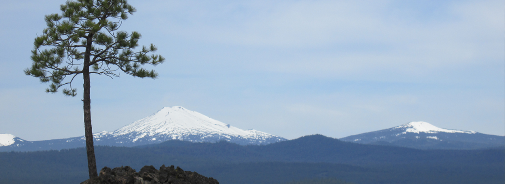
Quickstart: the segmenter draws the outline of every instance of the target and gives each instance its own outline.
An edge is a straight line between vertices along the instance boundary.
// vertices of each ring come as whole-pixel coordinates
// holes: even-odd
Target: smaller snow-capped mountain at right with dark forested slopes
[[[409,122],[390,129],[348,136],[340,140],[417,149],[479,149],[505,146],[503,136],[442,129],[423,121]]]

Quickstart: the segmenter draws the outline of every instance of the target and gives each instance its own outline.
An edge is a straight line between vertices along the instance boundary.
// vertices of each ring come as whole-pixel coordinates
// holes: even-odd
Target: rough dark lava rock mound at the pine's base
[[[160,170],[152,165],[144,166],[136,172],[129,166],[111,169],[104,167],[95,179],[88,179],[81,184],[219,184],[218,180],[196,172],[184,171],[174,166],[162,165]]]

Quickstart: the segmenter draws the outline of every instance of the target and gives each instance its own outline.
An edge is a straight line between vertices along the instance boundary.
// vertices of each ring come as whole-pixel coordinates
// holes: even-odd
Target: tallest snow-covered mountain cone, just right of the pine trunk
[[[95,133],[93,137],[97,145],[130,146],[174,139],[191,142],[226,140],[242,145],[270,144],[286,140],[252,129],[242,130],[181,106],[164,107],[114,132]]]

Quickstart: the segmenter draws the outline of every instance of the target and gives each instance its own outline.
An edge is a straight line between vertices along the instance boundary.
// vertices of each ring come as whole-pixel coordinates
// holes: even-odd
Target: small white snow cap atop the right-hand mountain
[[[424,121],[413,121],[409,122],[408,124],[403,124],[398,127],[394,127],[393,129],[406,129],[404,133],[410,132],[410,133],[428,133],[428,134],[436,134],[439,132],[446,132],[446,133],[465,133],[465,134],[475,134],[476,132],[474,131],[461,131],[461,130],[448,130],[448,129],[442,129],[435,127],[428,122]]]

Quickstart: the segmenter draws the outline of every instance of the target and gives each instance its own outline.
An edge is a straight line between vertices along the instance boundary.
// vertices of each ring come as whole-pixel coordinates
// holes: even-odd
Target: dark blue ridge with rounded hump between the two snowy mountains
[[[141,148],[169,155],[208,158],[233,162],[325,162],[352,165],[370,164],[453,164],[466,162],[503,162],[500,158],[505,148],[489,150],[418,150],[412,148],[366,145],[340,141],[323,135],[304,136],[298,139],[263,146],[241,146],[227,142],[190,143],[167,141],[161,144],[144,145]],[[497,151],[496,151],[497,150]],[[484,152],[499,153],[498,156],[482,157]],[[480,156],[477,156],[480,155]],[[469,160],[469,157],[474,157]],[[505,156],[505,155],[502,155]],[[490,162],[489,162],[490,163]],[[504,162],[505,163],[505,162]]]

